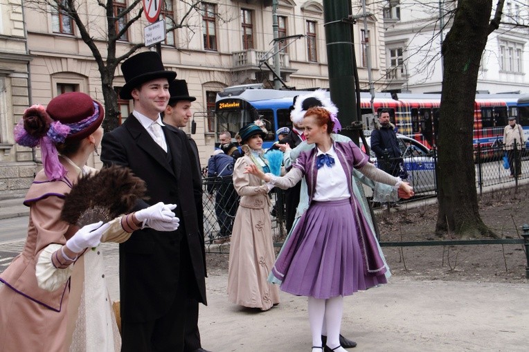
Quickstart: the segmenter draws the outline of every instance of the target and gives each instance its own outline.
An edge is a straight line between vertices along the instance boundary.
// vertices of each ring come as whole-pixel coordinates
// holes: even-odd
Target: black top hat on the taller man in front
[[[121,99],[132,99],[132,90],[145,82],[156,78],[167,78],[168,82],[171,82],[177,77],[176,72],[165,70],[160,55],[154,51],[145,51],[129,57],[121,64],[121,71],[126,82],[119,92]]]

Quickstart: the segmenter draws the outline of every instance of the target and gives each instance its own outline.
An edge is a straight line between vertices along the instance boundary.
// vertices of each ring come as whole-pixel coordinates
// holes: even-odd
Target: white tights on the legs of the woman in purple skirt
[[[340,325],[343,313],[343,297],[317,299],[309,297],[308,302],[310,332],[312,333],[312,346],[321,346],[323,323],[327,333],[327,346],[334,352],[347,352],[340,346]],[[323,347],[323,346],[321,346]],[[337,348],[338,347],[338,348]],[[312,349],[312,352],[322,352],[321,349]]]

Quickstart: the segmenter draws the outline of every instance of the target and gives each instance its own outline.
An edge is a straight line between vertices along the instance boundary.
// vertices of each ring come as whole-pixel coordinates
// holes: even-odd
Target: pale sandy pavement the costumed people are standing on
[[[26,207],[10,202],[0,201],[0,219],[24,215]],[[0,243],[0,252],[19,252],[22,246],[22,239]],[[117,300],[118,245],[104,243],[101,250],[109,293]],[[201,306],[199,318],[204,348],[213,352],[310,351],[305,297],[282,292],[278,306],[256,312],[229,303],[226,285],[227,273],[206,279],[208,306]],[[355,352],[527,351],[528,297],[527,280],[501,284],[392,277],[387,285],[346,297],[341,331],[358,342],[350,350]]]

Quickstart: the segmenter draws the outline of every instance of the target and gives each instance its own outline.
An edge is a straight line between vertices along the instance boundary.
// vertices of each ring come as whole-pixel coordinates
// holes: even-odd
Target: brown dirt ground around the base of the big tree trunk
[[[381,241],[437,241],[434,230],[438,207],[424,201],[418,207],[402,205],[377,212]],[[521,238],[529,223],[529,186],[505,189],[480,198],[480,214],[502,238]],[[526,281],[523,245],[419,246],[382,248],[395,276],[418,280],[519,283]],[[228,254],[206,254],[209,275],[228,270]]]

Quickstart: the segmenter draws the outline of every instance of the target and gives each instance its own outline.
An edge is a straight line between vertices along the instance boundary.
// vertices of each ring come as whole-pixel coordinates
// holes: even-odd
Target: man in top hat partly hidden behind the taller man
[[[186,80],[174,80],[169,84],[169,102],[163,112],[163,123],[168,129],[178,129],[186,127],[192,116],[191,103],[197,100],[191,97],[188,91]],[[189,144],[195,154],[195,164],[201,174],[200,158],[197,143],[188,136]],[[201,201],[201,200],[200,200]],[[204,268],[206,268],[206,252],[204,251],[204,233],[200,236],[202,258]],[[186,302],[186,331],[184,335],[184,352],[208,352],[202,349],[200,342],[200,332],[198,328],[199,302],[195,298],[189,298]]]

